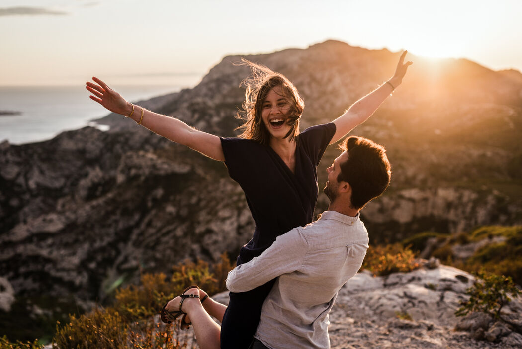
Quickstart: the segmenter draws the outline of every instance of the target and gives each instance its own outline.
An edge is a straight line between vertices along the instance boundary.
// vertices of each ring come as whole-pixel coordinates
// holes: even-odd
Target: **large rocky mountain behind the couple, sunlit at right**
[[[327,41],[244,57],[295,83],[306,103],[304,130],[335,119],[389,78],[398,56]],[[522,223],[522,74],[462,59],[409,59],[393,97],[352,131],[385,145],[393,166],[386,194],[362,212],[372,242]],[[196,87],[139,104],[234,135],[248,75],[233,64],[239,60],[224,57]],[[111,130],[0,145],[0,276],[18,295],[102,300],[141,271],[236,255],[252,235],[242,191],[223,164],[121,115],[99,122]],[[327,150],[320,184],[337,153]],[[321,194],[316,211],[326,205]]]

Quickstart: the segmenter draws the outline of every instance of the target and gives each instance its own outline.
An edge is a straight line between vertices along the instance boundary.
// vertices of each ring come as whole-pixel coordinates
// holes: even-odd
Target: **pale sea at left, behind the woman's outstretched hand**
[[[139,85],[114,86],[129,101],[137,101],[176,92],[186,86]],[[0,143],[45,141],[63,131],[96,124],[91,120],[109,113],[89,98],[80,86],[0,86],[0,111],[18,111],[19,115],[0,114]],[[103,126],[99,126],[103,130]]]

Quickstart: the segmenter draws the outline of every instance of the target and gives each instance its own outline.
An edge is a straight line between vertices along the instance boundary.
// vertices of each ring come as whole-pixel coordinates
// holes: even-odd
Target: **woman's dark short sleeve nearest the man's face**
[[[299,142],[301,142],[300,146],[308,153],[315,167],[319,165],[319,161],[321,161],[335,131],[335,124],[329,123],[309,127],[298,136]]]

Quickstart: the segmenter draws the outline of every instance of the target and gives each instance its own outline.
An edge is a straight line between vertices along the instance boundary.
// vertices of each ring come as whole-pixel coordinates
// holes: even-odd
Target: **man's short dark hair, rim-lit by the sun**
[[[337,181],[350,184],[351,204],[360,210],[388,187],[392,169],[386,150],[370,139],[355,136],[347,138],[340,148],[348,152],[348,160],[339,165]]]

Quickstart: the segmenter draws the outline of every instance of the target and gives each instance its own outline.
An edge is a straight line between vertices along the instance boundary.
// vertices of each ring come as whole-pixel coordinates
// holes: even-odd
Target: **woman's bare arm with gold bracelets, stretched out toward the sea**
[[[214,160],[224,161],[223,149],[219,137],[201,132],[188,126],[181,120],[167,117],[129,103],[118,92],[111,89],[97,77],[96,84],[87,82],[86,88],[92,93],[90,98],[106,109],[130,118],[150,131],[170,139],[172,142],[186,145]],[[141,113],[143,110],[143,118]]]

